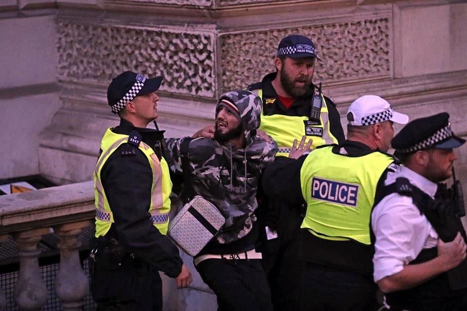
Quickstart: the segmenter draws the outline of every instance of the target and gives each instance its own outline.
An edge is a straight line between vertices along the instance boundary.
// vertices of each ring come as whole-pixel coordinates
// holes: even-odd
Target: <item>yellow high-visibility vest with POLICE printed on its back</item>
[[[379,152],[336,155],[332,148],[314,150],[303,163],[300,181],[307,207],[301,227],[323,239],[369,245],[377,183],[394,159]]]

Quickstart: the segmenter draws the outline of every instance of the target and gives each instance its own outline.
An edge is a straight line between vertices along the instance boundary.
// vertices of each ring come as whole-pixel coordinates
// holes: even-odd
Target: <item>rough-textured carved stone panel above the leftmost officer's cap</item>
[[[213,33],[59,21],[58,78],[108,85],[125,70],[163,75],[161,90],[214,97]]]

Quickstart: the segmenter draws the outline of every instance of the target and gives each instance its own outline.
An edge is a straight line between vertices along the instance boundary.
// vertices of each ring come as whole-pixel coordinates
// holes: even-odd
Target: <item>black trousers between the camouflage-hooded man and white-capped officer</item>
[[[261,229],[261,264],[268,278],[274,311],[297,311],[304,264],[299,256],[303,218],[298,208],[284,205],[280,207],[279,215],[276,239],[267,240],[265,229]]]

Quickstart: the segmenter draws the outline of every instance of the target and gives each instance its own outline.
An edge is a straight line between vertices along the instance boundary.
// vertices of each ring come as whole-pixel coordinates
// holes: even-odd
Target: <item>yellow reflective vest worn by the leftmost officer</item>
[[[123,143],[128,141],[128,135],[115,134],[110,129],[102,138],[102,153],[97,160],[94,170],[94,195],[96,206],[96,237],[105,235],[114,223],[113,214],[108,205],[108,200],[101,182],[101,170],[108,157]],[[153,173],[151,203],[148,212],[151,221],[162,234],[166,234],[170,211],[170,193],[172,182],[169,177],[169,168],[164,158],[159,158],[151,147],[140,142],[138,148],[146,155]]]

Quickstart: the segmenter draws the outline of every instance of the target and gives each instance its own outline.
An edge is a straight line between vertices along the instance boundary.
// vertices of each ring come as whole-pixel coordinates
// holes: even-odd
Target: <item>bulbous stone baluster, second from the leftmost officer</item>
[[[21,310],[41,310],[47,302],[47,286],[39,271],[37,243],[49,228],[38,228],[13,234],[19,248],[19,276],[15,286],[15,302]]]

